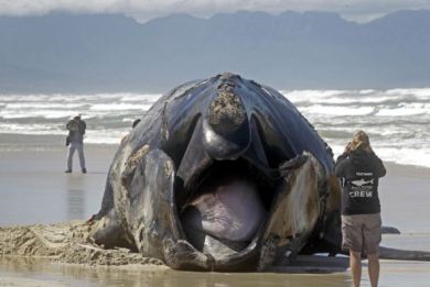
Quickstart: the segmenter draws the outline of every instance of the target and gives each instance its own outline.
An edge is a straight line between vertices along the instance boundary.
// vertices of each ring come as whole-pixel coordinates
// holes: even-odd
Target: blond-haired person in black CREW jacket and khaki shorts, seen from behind
[[[342,180],[342,247],[350,251],[354,287],[362,278],[362,253],[367,255],[372,287],[378,286],[381,240],[378,178],[383,162],[373,152],[367,134],[358,131],[338,156],[336,176]]]

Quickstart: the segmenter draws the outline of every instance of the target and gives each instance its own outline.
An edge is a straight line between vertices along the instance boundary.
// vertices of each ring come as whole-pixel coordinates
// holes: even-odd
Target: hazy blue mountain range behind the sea
[[[279,89],[430,86],[430,11],[0,16],[0,93],[165,91],[225,70]]]

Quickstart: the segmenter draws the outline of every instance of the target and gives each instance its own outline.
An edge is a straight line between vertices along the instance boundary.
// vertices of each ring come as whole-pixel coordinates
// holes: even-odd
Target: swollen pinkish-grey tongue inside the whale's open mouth
[[[187,240],[198,250],[215,241],[237,250],[249,242],[266,211],[256,185],[244,178],[229,178],[206,185],[181,216]]]

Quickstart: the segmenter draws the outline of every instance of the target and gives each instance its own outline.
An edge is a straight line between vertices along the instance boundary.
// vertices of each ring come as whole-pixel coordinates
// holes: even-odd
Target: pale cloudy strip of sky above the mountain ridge
[[[0,0],[2,15],[122,13],[140,22],[171,13],[211,16],[238,10],[336,12],[347,20],[366,22],[397,10],[430,9],[430,0]]]

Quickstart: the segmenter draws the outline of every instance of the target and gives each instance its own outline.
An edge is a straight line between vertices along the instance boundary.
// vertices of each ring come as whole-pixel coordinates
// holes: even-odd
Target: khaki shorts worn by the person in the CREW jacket
[[[342,249],[364,254],[378,253],[380,213],[342,216]]]

